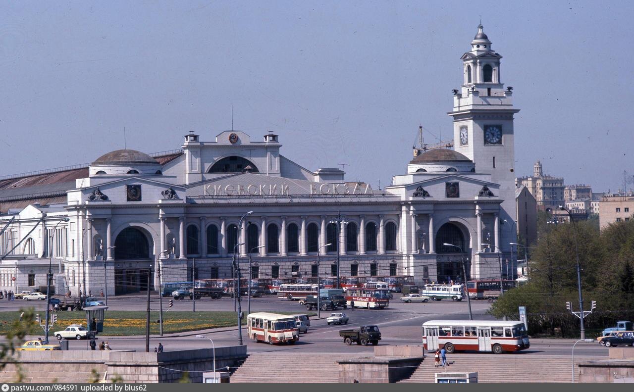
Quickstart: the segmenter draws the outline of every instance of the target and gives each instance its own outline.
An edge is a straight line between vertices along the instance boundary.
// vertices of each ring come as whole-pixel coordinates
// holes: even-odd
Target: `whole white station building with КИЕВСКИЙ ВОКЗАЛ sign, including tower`
[[[519,110],[500,59],[479,26],[448,113],[454,149],[392,157],[404,173],[384,189],[302,167],[281,155],[273,132],[239,130],[190,132],[152,156],[123,149],[1,177],[0,288],[39,288],[51,264],[58,293],[117,295],[231,277],[234,258],[243,275],[250,260],[253,277],[330,277],[339,260],[342,276],[422,284],[460,280],[464,258],[469,279],[501,270],[513,279]]]

